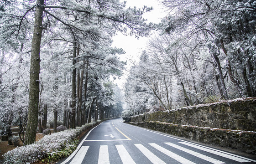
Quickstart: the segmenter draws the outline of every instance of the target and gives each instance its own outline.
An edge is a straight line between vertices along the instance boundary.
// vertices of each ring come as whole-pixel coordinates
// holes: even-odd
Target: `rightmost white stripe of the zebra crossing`
[[[215,150],[212,150],[212,149],[207,149],[207,148],[197,146],[197,145],[194,145],[194,144],[189,144],[189,143],[186,143],[186,142],[179,142],[179,143],[190,146],[190,147],[193,147],[193,148],[196,148],[196,149],[200,149],[200,150],[203,150],[203,151],[215,154],[215,155],[219,155],[219,156],[222,156],[222,157],[225,157],[225,158],[228,158],[228,159],[232,159],[232,160],[235,160],[235,161],[238,161],[238,162],[251,162],[251,161],[246,160],[246,159],[241,159],[241,158],[235,157],[233,155],[221,153],[219,151],[215,151]]]

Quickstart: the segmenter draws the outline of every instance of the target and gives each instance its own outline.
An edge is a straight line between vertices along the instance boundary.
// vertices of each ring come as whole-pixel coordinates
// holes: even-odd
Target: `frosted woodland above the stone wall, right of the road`
[[[256,97],[255,0],[161,3],[168,15],[129,71],[127,110],[141,114]]]

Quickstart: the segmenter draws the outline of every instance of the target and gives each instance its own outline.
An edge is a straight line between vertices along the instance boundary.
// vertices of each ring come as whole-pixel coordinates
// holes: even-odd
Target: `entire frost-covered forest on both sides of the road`
[[[256,1],[159,0],[168,15],[119,0],[0,1],[0,126],[24,144],[47,121],[76,128],[91,120],[256,97]],[[117,31],[150,36],[123,90]],[[124,92],[124,96],[122,95]],[[124,103],[126,105],[124,105]],[[26,138],[24,133],[26,129]]]

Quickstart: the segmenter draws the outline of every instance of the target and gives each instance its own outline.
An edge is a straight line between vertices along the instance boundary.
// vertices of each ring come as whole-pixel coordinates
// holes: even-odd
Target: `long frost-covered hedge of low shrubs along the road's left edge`
[[[100,123],[101,120],[93,123],[88,123],[82,127],[75,129],[68,129],[52,135],[46,135],[41,140],[34,144],[21,146],[5,153],[5,164],[29,164],[35,162],[37,159],[52,159],[49,156],[54,156],[54,159],[63,157],[67,152],[71,154],[75,140],[86,129]],[[71,152],[72,151],[72,152]],[[71,152],[71,153],[70,153]]]

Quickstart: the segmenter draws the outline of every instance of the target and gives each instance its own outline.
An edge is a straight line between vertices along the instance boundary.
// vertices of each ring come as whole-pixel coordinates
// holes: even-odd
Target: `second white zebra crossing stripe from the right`
[[[211,158],[211,157],[208,157],[208,156],[206,156],[206,155],[200,154],[200,153],[195,152],[195,151],[193,151],[193,150],[183,148],[183,147],[181,147],[181,146],[179,146],[179,145],[172,144],[172,143],[165,143],[165,144],[167,144],[167,145],[169,145],[169,146],[172,146],[173,148],[182,150],[182,151],[184,151],[184,152],[186,152],[186,153],[188,153],[188,154],[192,154],[192,155],[194,155],[194,156],[196,156],[196,157],[198,157],[198,158],[200,158],[200,159],[204,159],[204,160],[206,160],[206,161],[208,161],[208,162],[211,162],[211,163],[213,163],[213,164],[225,164],[225,162],[219,161],[219,160],[217,160],[217,159],[213,159],[213,158]]]

